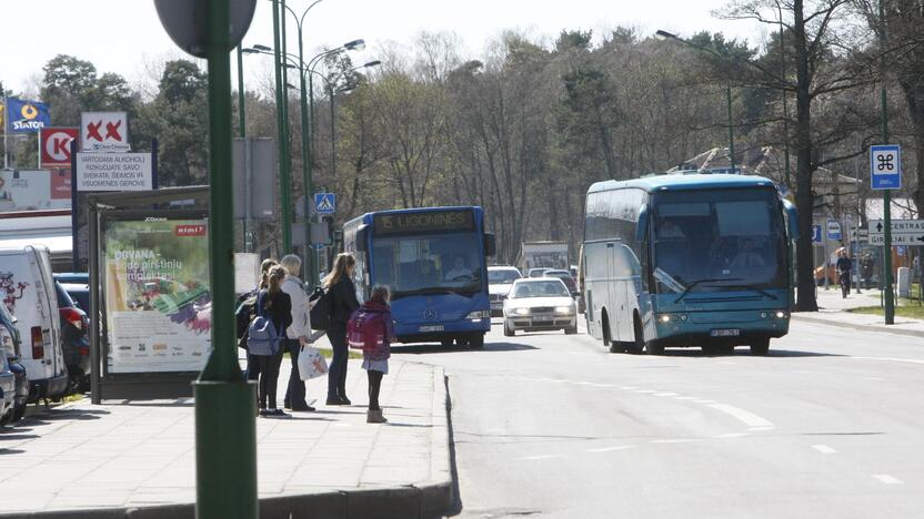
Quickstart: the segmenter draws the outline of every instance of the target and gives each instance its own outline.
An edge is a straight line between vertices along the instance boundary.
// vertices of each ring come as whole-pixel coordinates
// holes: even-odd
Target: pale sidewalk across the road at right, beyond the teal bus
[[[841,326],[863,332],[886,332],[912,337],[924,337],[924,320],[921,319],[896,316],[894,325],[886,325],[885,319],[881,315],[846,312],[863,306],[878,306],[880,292],[877,289],[863,291],[862,294],[857,294],[856,289],[853,289],[846,299],[841,297],[840,287],[835,286],[831,287],[830,291],[818,287],[817,294],[818,312],[794,313],[792,314],[793,320]]]

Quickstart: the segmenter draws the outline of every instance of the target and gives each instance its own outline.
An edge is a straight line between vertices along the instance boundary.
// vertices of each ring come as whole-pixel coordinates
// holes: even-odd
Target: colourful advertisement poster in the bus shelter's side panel
[[[204,220],[110,221],[109,373],[199,372],[211,349]]]

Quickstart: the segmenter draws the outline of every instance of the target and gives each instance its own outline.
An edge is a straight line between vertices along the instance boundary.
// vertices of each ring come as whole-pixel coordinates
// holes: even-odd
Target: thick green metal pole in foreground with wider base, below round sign
[[[244,380],[234,340],[234,211],[231,174],[229,1],[208,0],[209,261],[212,353],[195,396],[195,515],[200,519],[259,515],[257,398]]]

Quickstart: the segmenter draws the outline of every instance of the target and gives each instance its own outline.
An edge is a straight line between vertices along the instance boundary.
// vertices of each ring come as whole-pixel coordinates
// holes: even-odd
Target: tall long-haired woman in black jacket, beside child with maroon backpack
[[[356,260],[350,253],[337,255],[333,269],[324,278],[324,288],[330,292],[331,323],[328,327],[328,338],[333,348],[333,360],[328,373],[328,405],[349,406],[346,398],[346,323],[353,311],[360,307],[356,299],[356,287],[353,285],[353,269]]]

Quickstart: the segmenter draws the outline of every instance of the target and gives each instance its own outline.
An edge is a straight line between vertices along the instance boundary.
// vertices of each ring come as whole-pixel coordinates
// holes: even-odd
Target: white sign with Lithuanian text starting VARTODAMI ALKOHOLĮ
[[[150,153],[78,153],[77,191],[153,189]]]

